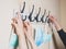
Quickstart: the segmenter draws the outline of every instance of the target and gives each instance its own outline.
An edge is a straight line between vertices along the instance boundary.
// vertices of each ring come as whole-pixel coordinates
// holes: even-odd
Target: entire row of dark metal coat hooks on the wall
[[[25,9],[25,2],[23,2],[23,9],[21,10],[21,13],[24,13],[24,9]],[[33,12],[34,12],[34,4],[33,4],[33,8],[32,8],[32,11],[30,12],[30,14],[25,15],[24,19],[22,16],[22,20],[25,21],[26,19],[29,19],[30,22],[34,22],[34,21],[42,22],[42,23],[48,22],[48,16],[50,16],[51,11],[48,11],[48,14],[45,16],[46,10],[44,10],[44,13],[43,13],[41,20],[38,20],[38,15],[41,13],[41,8],[38,8],[38,12],[37,12],[37,14],[36,14],[36,16],[34,19],[32,19]]]

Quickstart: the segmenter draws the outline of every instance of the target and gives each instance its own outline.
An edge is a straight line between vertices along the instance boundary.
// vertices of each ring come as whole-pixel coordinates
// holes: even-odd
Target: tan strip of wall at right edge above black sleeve
[[[61,0],[61,24],[66,30],[66,0]]]

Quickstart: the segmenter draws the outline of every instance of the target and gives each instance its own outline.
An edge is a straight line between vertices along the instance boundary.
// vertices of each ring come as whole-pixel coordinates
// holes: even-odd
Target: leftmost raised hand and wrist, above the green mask
[[[21,36],[23,32],[23,22],[21,20],[21,15],[18,12],[18,15],[12,19],[12,27],[15,29],[18,36]]]

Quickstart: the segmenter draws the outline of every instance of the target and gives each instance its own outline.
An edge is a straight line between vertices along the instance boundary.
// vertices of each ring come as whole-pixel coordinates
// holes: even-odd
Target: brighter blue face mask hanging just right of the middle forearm
[[[36,46],[40,46],[41,44],[43,44],[43,32],[41,28],[36,28],[35,44],[36,44]]]

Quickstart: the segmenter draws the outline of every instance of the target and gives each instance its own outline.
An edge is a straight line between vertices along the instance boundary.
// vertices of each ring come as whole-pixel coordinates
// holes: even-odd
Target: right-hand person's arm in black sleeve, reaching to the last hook
[[[63,30],[63,28],[59,26],[59,24],[57,23],[56,19],[53,16],[48,16],[50,21],[55,25],[57,33],[61,37],[61,39],[63,40],[64,45],[66,46],[66,33]]]

